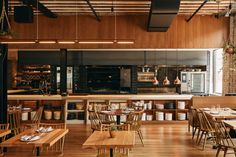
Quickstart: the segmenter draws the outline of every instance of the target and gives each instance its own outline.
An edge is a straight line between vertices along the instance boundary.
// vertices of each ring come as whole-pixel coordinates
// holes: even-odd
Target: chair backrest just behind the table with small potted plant
[[[129,131],[130,124],[102,124],[101,131]]]

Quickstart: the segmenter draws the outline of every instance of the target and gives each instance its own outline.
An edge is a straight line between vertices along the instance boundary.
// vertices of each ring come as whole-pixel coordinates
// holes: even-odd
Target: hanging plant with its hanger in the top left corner
[[[7,22],[7,30],[4,29],[4,23],[5,20]],[[9,19],[7,16],[6,8],[5,8],[5,0],[2,1],[2,11],[1,11],[1,16],[0,16],[0,38],[1,39],[11,39],[13,36],[13,30],[11,29],[11,25],[9,23]]]

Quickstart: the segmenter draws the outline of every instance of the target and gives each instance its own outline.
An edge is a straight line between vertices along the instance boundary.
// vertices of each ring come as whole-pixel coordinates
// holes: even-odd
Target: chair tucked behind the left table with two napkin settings
[[[40,123],[39,127],[52,127],[53,129],[66,129],[65,123]],[[64,149],[64,142],[65,142],[65,136],[60,139],[58,142],[56,142],[51,147],[44,147],[42,151],[45,152],[58,152],[60,155],[63,155],[63,149]]]

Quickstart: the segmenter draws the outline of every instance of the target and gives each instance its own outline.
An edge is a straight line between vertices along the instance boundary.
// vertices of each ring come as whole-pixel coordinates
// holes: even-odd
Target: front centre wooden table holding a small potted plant
[[[83,148],[109,148],[113,156],[113,148],[132,148],[135,145],[135,131],[117,131],[115,138],[110,138],[109,131],[94,131],[84,142]]]

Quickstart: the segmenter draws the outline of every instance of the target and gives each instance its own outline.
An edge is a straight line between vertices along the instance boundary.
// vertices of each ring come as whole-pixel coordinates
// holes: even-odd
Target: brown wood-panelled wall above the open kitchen
[[[167,32],[147,32],[148,16],[117,16],[117,39],[133,39],[135,44],[118,45],[10,45],[10,48],[218,48],[229,34],[229,18],[195,16],[186,22],[185,16],[177,16]],[[49,19],[39,16],[40,39],[75,39],[75,16]],[[12,23],[18,39],[36,39],[36,20],[33,24]],[[115,39],[113,16],[78,17],[78,39]]]

